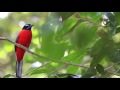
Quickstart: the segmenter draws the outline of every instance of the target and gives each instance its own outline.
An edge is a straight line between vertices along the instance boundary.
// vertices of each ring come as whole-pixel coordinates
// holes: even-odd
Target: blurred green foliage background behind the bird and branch
[[[22,78],[64,78],[68,74],[83,78],[119,77],[119,12],[9,12],[6,17],[2,14],[0,37],[15,41],[26,23],[34,24],[29,49],[56,60],[26,52],[23,74],[28,74]],[[11,75],[15,74],[15,61],[14,45],[0,40],[1,78],[14,78]]]

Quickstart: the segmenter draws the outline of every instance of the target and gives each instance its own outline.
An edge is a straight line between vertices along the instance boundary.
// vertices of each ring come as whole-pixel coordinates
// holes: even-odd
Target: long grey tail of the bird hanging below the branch
[[[23,64],[23,60],[16,61],[16,77],[17,78],[21,78],[22,75],[22,64]]]

